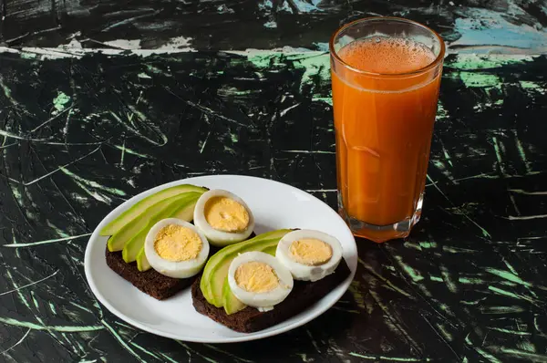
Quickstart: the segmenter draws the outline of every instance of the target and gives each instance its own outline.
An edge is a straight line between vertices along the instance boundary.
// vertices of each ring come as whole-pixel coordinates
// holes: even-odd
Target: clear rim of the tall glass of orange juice
[[[408,72],[402,72],[402,73],[377,73],[377,72],[366,71],[366,70],[363,70],[363,69],[358,69],[356,67],[350,66],[341,57],[338,56],[338,53],[335,51],[335,38],[342,31],[346,30],[350,26],[355,26],[357,23],[364,23],[364,22],[371,22],[371,21],[387,21],[387,20],[398,21],[400,23],[407,23],[407,24],[411,24],[413,26],[419,26],[423,29],[426,29],[429,33],[433,34],[433,36],[435,36],[437,38],[437,40],[439,41],[439,45],[440,45],[439,55],[431,63],[429,63],[425,67],[421,67],[421,68],[418,68],[416,70],[412,70],[412,71],[408,71]],[[340,26],[335,31],[335,33],[331,36],[331,38],[328,42],[328,47],[329,47],[329,52],[330,52],[331,57],[334,57],[335,60],[340,62],[344,67],[349,68],[352,71],[354,71],[356,73],[360,73],[362,75],[386,77],[386,78],[397,78],[397,77],[401,77],[401,76],[416,76],[416,75],[419,75],[419,74],[423,74],[423,73],[427,72],[428,70],[430,70],[431,68],[437,67],[439,65],[439,63],[442,62],[442,60],[445,56],[445,51],[446,51],[444,40],[442,39],[441,36],[439,36],[439,34],[435,30],[431,29],[428,26],[424,26],[423,24],[418,23],[414,20],[406,19],[404,17],[397,17],[397,16],[369,16],[369,17],[362,17],[360,19],[356,19],[354,21],[351,21],[351,22],[347,23],[344,26]]]

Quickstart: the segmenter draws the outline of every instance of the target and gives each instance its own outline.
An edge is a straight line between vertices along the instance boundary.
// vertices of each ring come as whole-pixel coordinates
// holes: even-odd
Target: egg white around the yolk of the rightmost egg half
[[[325,242],[325,244],[329,244],[333,251],[330,260],[325,262],[325,264],[316,266],[308,266],[294,261],[289,249],[294,241],[303,238],[315,238]],[[336,267],[342,259],[342,245],[334,236],[327,233],[310,229],[296,230],[286,233],[279,241],[275,250],[275,258],[279,259],[291,271],[295,280],[314,282],[335,272]]]

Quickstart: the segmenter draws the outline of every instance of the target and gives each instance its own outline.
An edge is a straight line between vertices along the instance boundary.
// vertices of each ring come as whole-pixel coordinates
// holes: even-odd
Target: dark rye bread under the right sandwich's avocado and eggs
[[[273,310],[260,312],[256,308],[247,306],[232,315],[227,315],[223,307],[212,306],[201,293],[200,278],[191,285],[192,304],[197,312],[209,316],[212,320],[241,333],[253,333],[279,324],[291,316],[302,312],[313,305],[321,297],[328,294],[350,275],[346,260],[342,259],[335,272],[319,281],[304,282],[294,280],[291,294]]]

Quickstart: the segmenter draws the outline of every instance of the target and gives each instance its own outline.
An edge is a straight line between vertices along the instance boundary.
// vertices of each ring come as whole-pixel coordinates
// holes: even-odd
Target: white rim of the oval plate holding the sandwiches
[[[321,307],[319,309],[318,313],[308,314],[307,316],[303,316],[302,318],[296,320],[294,323],[292,323],[292,324],[290,324],[286,327],[279,327],[279,328],[274,329],[273,331],[269,331],[269,332],[257,331],[257,332],[253,332],[253,333],[248,333],[248,334],[243,335],[241,337],[210,337],[210,338],[188,337],[188,336],[181,337],[181,336],[171,334],[169,332],[161,331],[161,330],[156,329],[156,328],[148,327],[146,325],[141,324],[138,320],[135,320],[135,319],[133,319],[129,316],[126,316],[125,314],[123,314],[123,312],[119,311],[118,308],[116,308],[115,306],[112,306],[108,302],[108,299],[106,298],[106,296],[103,296],[100,293],[100,291],[98,289],[98,286],[95,284],[94,280],[91,278],[91,270],[93,270],[93,268],[91,266],[91,263],[90,263],[91,250],[92,250],[92,245],[93,245],[91,242],[96,241],[98,239],[98,237],[102,237],[98,233],[103,228],[103,226],[106,225],[107,221],[110,220],[110,217],[113,217],[116,214],[122,213],[124,210],[126,210],[126,207],[129,207],[129,205],[134,204],[135,202],[139,202],[141,199],[145,198],[147,195],[150,195],[154,192],[159,192],[160,190],[170,188],[170,187],[175,186],[175,185],[180,185],[180,184],[185,184],[185,183],[192,184],[192,180],[198,180],[198,179],[207,180],[207,179],[230,179],[230,178],[236,178],[236,179],[241,178],[241,179],[252,179],[252,180],[258,180],[258,181],[265,181],[265,182],[274,182],[274,183],[280,184],[280,186],[284,186],[284,187],[288,187],[290,189],[293,189],[296,192],[303,192],[304,194],[306,194],[310,198],[312,198],[312,199],[314,199],[318,202],[324,203],[331,210],[331,212],[334,214],[335,217],[342,220],[342,217],[340,217],[340,215],[338,213],[336,213],[335,210],[332,209],[330,207],[330,205],[328,205],[326,202],[320,200],[319,198],[315,197],[315,195],[313,195],[309,192],[305,192],[304,190],[302,190],[300,188],[297,188],[297,187],[295,187],[291,184],[284,183],[282,181],[275,181],[275,180],[268,179],[268,178],[256,177],[256,176],[252,176],[252,175],[239,175],[239,174],[207,174],[207,175],[200,175],[200,176],[195,176],[195,177],[190,177],[190,178],[183,178],[183,179],[179,179],[179,180],[176,180],[176,181],[168,181],[166,183],[157,185],[153,188],[147,189],[143,192],[139,192],[139,194],[136,194],[136,195],[132,196],[131,198],[129,198],[127,201],[122,202],[121,204],[119,204],[119,206],[117,206],[116,208],[111,210],[106,216],[104,216],[102,218],[102,220],[95,227],[95,230],[93,231],[93,233],[91,233],[91,235],[89,236],[88,244],[86,244],[86,252],[85,252],[85,255],[84,255],[84,272],[85,272],[85,275],[86,275],[86,280],[88,282],[88,286],[91,289],[91,292],[93,293],[95,298],[98,300],[98,302],[101,305],[105,306],[111,314],[117,316],[119,319],[125,321],[126,323],[128,323],[132,327],[137,327],[140,330],[146,331],[148,333],[151,333],[151,334],[154,334],[154,335],[157,335],[157,336],[160,336],[160,337],[168,337],[168,338],[171,338],[171,339],[181,340],[181,341],[185,341],[185,342],[192,342],[192,343],[210,343],[210,344],[237,343],[237,342],[244,342],[244,341],[263,339],[265,337],[274,337],[274,336],[286,333],[288,331],[294,330],[297,327],[304,326],[305,324],[309,323],[310,321],[314,320],[315,318],[317,318],[319,316],[322,316],[323,314],[325,314],[325,312],[327,310],[329,310],[332,306],[334,306],[340,300],[340,298],[342,296],[344,296],[344,294],[346,294],[346,291],[348,290],[349,285],[351,285],[351,283],[354,280],[354,277],[356,275],[356,262],[357,262],[357,258],[358,258],[358,254],[357,254],[358,250],[357,250],[357,246],[356,246],[356,239],[355,239],[355,236],[353,235],[353,233],[351,233],[351,230],[349,229],[349,227],[347,226],[346,223],[343,223],[343,224],[346,227],[346,232],[348,233],[348,235],[351,236],[351,242],[353,242],[353,246],[354,246],[353,249],[355,250],[355,255],[356,255],[355,260],[356,261],[355,261],[355,264],[352,265],[350,263],[350,261],[347,261],[345,259],[346,264],[348,265],[348,267],[350,269],[350,275],[348,275],[346,277],[346,279],[344,281],[342,281],[342,283],[340,285],[338,285],[338,286],[342,286],[343,288],[340,289],[340,292],[335,294],[335,296],[333,298],[333,302],[328,303],[325,306]],[[196,184],[199,184],[199,183],[196,182]],[[344,221],[342,220],[342,222],[344,222]],[[344,259],[344,256],[342,258]],[[329,294],[332,294],[332,293],[333,292],[331,291]],[[317,302],[321,301],[323,298],[325,298],[325,296],[322,297],[321,299],[317,300]],[[306,310],[307,309],[304,309],[303,312],[305,312]],[[220,323],[217,323],[217,324],[220,324]]]

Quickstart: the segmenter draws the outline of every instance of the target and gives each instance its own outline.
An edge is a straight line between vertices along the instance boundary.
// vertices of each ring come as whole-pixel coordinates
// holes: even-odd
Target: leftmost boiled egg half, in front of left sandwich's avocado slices
[[[198,274],[209,256],[207,238],[193,224],[167,218],[150,228],[144,253],[161,275],[187,278]]]

